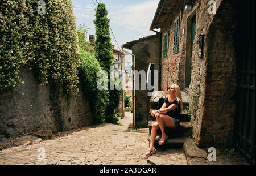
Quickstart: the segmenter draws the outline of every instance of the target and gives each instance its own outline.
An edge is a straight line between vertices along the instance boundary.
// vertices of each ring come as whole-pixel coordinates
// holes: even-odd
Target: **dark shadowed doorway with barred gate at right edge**
[[[255,165],[255,1],[238,1],[236,31],[237,104],[234,137]]]

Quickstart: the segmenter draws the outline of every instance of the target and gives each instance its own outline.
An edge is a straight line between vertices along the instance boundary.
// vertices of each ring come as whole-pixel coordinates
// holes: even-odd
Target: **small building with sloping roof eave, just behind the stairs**
[[[152,35],[127,42],[123,48],[133,51],[133,126],[147,127],[149,97],[146,88],[146,73],[150,63],[159,62],[159,35]],[[137,74],[135,74],[137,70]],[[159,70],[158,67],[155,70]],[[138,80],[138,81],[136,81]],[[136,89],[138,87],[138,89]]]

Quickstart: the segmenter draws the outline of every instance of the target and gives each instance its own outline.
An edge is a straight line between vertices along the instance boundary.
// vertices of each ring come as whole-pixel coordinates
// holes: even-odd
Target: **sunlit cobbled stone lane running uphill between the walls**
[[[148,148],[148,130],[133,131],[128,128],[130,123],[132,113],[126,112],[120,125],[104,123],[84,127],[60,132],[38,144],[3,149],[0,164],[152,164],[143,156]],[[161,163],[187,164],[181,149],[159,151],[159,154],[154,157]]]

